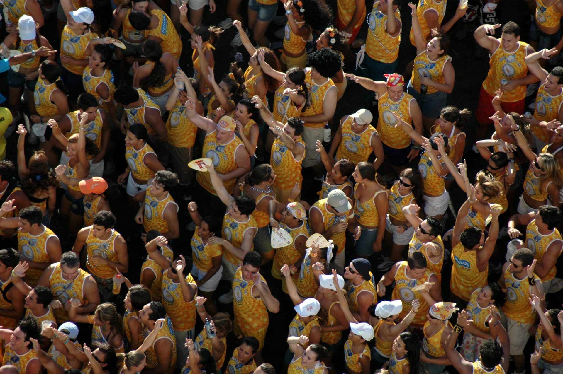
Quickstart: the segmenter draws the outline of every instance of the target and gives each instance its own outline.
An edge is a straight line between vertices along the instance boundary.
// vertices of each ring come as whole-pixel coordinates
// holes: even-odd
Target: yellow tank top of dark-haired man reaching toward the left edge
[[[51,258],[47,253],[47,240],[50,237],[56,237],[56,235],[51,229],[44,226],[43,232],[37,236],[18,230],[17,249],[20,251],[20,255],[23,255],[29,261],[51,264]],[[41,274],[43,274],[43,269],[29,268],[25,272],[25,281],[28,285],[34,287],[37,285]]]

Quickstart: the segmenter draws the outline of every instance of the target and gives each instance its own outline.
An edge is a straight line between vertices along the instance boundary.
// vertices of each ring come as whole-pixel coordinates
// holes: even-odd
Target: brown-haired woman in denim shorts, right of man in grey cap
[[[353,232],[356,226],[361,227],[360,238],[355,241],[355,250],[356,255],[367,258],[374,252],[381,251],[389,201],[385,187],[377,182],[376,169],[372,163],[367,161],[358,163],[352,177],[356,182],[354,187],[356,224],[348,226],[348,231]]]

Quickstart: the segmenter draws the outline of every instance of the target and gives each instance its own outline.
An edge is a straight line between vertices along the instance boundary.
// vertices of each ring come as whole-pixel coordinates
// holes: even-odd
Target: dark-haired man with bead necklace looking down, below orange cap
[[[127,242],[115,231],[115,222],[113,213],[100,211],[94,216],[92,226],[78,232],[73,246],[73,252],[77,255],[83,248],[86,249],[86,268],[96,280],[102,303],[115,301],[113,277],[117,271],[123,274],[129,269]]]

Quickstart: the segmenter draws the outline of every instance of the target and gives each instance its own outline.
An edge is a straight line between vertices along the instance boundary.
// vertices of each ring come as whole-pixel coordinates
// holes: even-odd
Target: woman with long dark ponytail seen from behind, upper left
[[[133,64],[133,87],[146,87],[145,91],[160,107],[160,112],[164,113],[168,94],[174,88],[178,62],[171,53],[162,53],[162,47],[155,40],[147,40],[143,51],[149,61],[142,66],[139,66],[138,62]]]

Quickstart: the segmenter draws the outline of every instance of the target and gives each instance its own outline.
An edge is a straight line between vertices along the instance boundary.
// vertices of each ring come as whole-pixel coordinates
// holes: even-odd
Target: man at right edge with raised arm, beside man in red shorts
[[[563,4],[563,2],[561,3]],[[541,84],[535,97],[535,111],[530,118],[531,129],[535,134],[538,149],[542,149],[549,143],[549,138],[553,134],[553,131],[547,128],[547,123],[552,120],[563,120],[563,111],[561,110],[561,103],[563,103],[563,67],[556,66],[551,73],[548,73],[540,66],[540,62],[543,61],[542,58],[549,60],[553,53],[555,51],[541,49],[524,59],[528,64],[528,69],[539,78]]]

